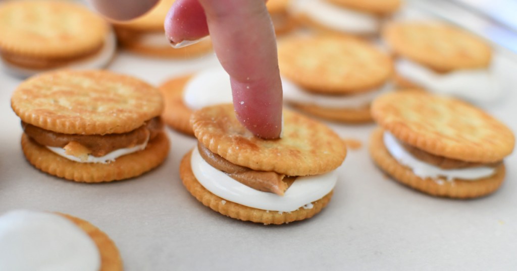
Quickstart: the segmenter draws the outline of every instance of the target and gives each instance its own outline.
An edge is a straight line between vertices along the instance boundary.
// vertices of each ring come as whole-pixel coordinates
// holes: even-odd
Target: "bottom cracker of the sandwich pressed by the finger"
[[[330,192],[322,199],[312,202],[312,209],[299,208],[293,212],[266,211],[227,201],[212,194],[197,181],[190,165],[191,154],[192,151],[189,151],[185,154],[183,160],[181,160],[181,164],[179,166],[179,176],[181,181],[183,181],[183,184],[190,194],[203,203],[203,205],[225,216],[243,221],[263,223],[266,225],[279,225],[311,218],[315,214],[319,213],[328,204],[332,197],[333,192]]]

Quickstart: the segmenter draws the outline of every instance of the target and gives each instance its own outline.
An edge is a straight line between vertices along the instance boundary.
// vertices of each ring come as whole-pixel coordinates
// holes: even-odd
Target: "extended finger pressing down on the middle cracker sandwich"
[[[210,38],[230,74],[239,121],[262,138],[278,138],[282,129],[282,85],[277,45],[262,1],[200,0]]]

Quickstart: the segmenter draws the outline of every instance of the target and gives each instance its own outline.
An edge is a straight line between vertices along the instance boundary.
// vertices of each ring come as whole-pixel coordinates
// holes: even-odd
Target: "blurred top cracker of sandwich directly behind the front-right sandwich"
[[[438,72],[487,68],[491,61],[486,42],[442,23],[391,23],[383,29],[383,38],[396,55]]]

